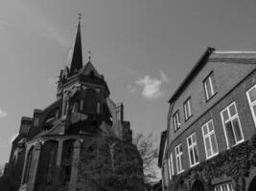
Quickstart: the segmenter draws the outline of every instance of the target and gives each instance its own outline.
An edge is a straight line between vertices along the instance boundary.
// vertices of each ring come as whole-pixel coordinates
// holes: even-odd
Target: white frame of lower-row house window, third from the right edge
[[[213,130],[212,131],[209,130],[209,123],[212,123],[212,125],[213,125]],[[206,135],[204,135],[204,131],[203,131],[204,127],[207,128],[207,131],[208,131],[208,133]],[[201,126],[201,134],[202,134],[202,137],[203,137],[206,159],[211,159],[211,158],[217,156],[219,154],[219,147],[218,147],[218,143],[217,143],[217,139],[216,139],[216,135],[215,135],[215,127],[214,127],[213,119],[209,120],[208,122],[206,122],[204,125]],[[214,137],[214,140],[216,142],[216,147],[217,147],[217,152],[216,153],[213,152],[213,143],[212,143],[211,136]],[[209,138],[209,140],[210,140],[210,149],[211,149],[211,152],[212,152],[211,156],[207,155],[206,138]]]

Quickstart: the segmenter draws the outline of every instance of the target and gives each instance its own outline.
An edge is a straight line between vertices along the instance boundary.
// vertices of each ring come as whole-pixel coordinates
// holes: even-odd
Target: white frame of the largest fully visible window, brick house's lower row
[[[232,105],[235,106],[236,115],[230,117],[229,108],[230,108]],[[229,121],[229,120],[232,121],[233,119],[238,118],[239,128],[240,128],[241,135],[242,135],[242,139],[239,140],[239,141],[236,141],[236,137],[235,137],[236,143],[235,143],[234,145],[232,145],[232,146],[236,146],[236,145],[238,145],[239,143],[243,142],[243,141],[244,141],[244,134],[243,134],[243,131],[242,131],[242,126],[241,126],[240,118],[239,118],[239,116],[238,116],[237,105],[236,105],[236,102],[234,101],[234,102],[230,103],[228,106],[226,106],[226,107],[221,111],[222,127],[223,127],[223,130],[224,130],[224,135],[225,135],[225,140],[226,140],[227,149],[229,149],[229,148],[230,148],[230,145],[229,145],[229,141],[228,141],[228,137],[227,137],[227,133],[226,133],[226,127],[225,127],[225,122],[226,122],[226,121],[224,121],[224,118],[223,118],[223,112],[224,112],[225,110],[227,110],[228,117],[229,117],[228,120],[226,120],[226,121]],[[232,124],[232,123],[231,123],[231,124]],[[232,130],[233,130],[233,125],[232,125]],[[234,136],[235,136],[235,134],[234,134]]]

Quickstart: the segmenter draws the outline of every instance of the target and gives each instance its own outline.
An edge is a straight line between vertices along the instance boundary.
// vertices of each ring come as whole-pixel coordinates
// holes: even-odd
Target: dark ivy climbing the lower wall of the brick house
[[[244,180],[241,178],[249,175],[249,169],[256,166],[256,148],[249,141],[220,153],[217,157],[201,162],[196,167],[185,171],[180,175],[175,175],[171,181],[171,188],[177,190],[179,186],[184,186],[185,181],[204,181],[206,190],[210,190],[211,180],[222,176],[231,177],[235,180],[235,188],[244,190]],[[236,189],[235,189],[236,190]]]

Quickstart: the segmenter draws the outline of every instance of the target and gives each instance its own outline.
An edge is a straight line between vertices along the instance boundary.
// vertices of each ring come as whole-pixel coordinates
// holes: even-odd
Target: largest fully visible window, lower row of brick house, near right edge
[[[244,140],[235,102],[221,111],[227,148]]]

